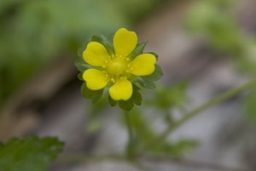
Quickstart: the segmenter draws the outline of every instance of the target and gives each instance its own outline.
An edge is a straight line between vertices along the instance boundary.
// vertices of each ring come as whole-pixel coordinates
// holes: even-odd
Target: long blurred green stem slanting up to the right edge
[[[163,143],[166,140],[166,137],[169,134],[172,134],[172,132],[174,130],[176,130],[177,128],[179,128],[181,125],[183,125],[183,123],[186,123],[191,118],[199,115],[201,113],[201,111],[205,111],[208,108],[212,107],[213,105],[217,105],[218,103],[221,103],[224,100],[228,100],[231,97],[233,97],[237,94],[241,94],[242,92],[244,92],[248,89],[251,89],[251,88],[256,88],[256,80],[253,80],[249,83],[241,85],[237,88],[232,88],[229,91],[225,92],[224,94],[220,94],[220,95],[216,96],[215,98],[213,98],[212,100],[209,100],[207,103],[199,106],[195,110],[190,111],[189,113],[185,114],[183,116],[183,118],[181,118],[179,121],[170,124],[169,127],[166,128],[166,131],[164,131],[162,134],[160,134],[159,137],[157,137],[155,140],[151,141],[148,145],[146,145],[145,148],[143,149],[143,151],[141,151],[138,155],[140,156],[141,154],[143,154],[144,151],[147,151],[154,145],[161,145],[161,143]]]

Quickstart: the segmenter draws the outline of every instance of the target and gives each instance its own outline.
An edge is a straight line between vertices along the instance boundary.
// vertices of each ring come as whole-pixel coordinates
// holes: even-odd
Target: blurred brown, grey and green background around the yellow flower
[[[120,27],[137,31],[139,41],[148,41],[145,51],[159,54],[165,75],[159,90],[145,91],[162,103],[149,98],[143,104],[149,108],[132,112],[153,120],[165,111],[179,117],[255,77],[255,16],[254,0],[0,0],[0,140],[51,135],[66,143],[67,154],[122,153],[127,136],[119,111],[106,101],[92,106],[80,94],[73,63],[90,37]],[[184,124],[170,140],[196,141],[186,158],[255,169],[255,100],[256,88],[237,95]],[[148,124],[160,132],[162,122]],[[146,170],[219,170],[200,163],[144,165]],[[51,170],[139,169],[107,161],[56,163]]]

